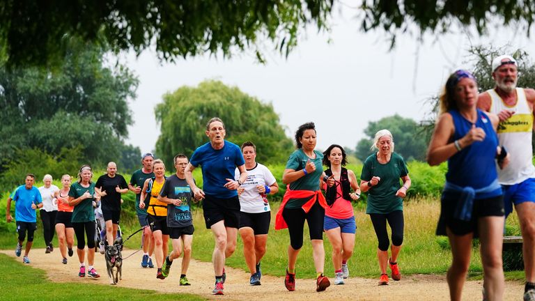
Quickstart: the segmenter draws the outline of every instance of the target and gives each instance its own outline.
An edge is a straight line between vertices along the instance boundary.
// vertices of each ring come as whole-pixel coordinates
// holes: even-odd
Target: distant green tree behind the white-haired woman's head
[[[426,157],[427,140],[421,134],[423,130],[416,121],[411,118],[403,118],[398,114],[381,118],[379,121],[370,121],[364,129],[367,138],[360,139],[357,143],[355,155],[359,160],[373,153],[370,150],[375,133],[387,129],[394,137],[394,151],[405,160],[424,160]]]

